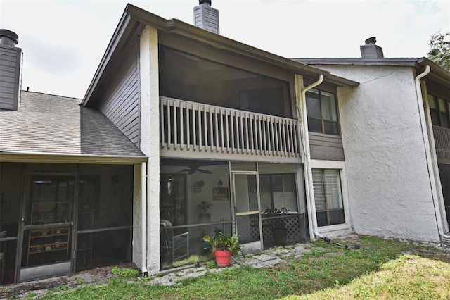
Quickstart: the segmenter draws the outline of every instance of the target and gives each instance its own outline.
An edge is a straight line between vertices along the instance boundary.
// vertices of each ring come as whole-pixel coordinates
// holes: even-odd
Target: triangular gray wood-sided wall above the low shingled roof
[[[139,145],[139,43],[132,46],[98,109]]]

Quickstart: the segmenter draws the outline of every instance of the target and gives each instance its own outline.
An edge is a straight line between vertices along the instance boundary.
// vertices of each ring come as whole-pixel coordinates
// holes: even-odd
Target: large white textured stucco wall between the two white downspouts
[[[360,82],[354,89],[338,89],[354,231],[439,241],[414,70],[386,66],[324,69]]]

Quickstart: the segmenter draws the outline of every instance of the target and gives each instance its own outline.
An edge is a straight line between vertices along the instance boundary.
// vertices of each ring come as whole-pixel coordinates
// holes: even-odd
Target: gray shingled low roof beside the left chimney
[[[22,91],[18,111],[0,111],[0,154],[145,155],[80,99]]]

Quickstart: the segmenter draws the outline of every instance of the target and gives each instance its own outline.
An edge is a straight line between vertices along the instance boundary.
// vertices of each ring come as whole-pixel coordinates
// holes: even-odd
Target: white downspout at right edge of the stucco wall
[[[416,93],[417,93],[417,104],[419,108],[419,118],[420,118],[420,127],[422,129],[422,138],[423,144],[425,145],[425,157],[427,159],[427,168],[430,179],[430,187],[433,198],[433,206],[435,207],[435,216],[437,222],[437,229],[439,230],[439,235],[444,237],[445,239],[450,239],[450,235],[446,235],[444,232],[443,220],[441,211],[439,210],[439,197],[437,196],[437,187],[436,187],[436,177],[432,164],[431,158],[431,149],[430,142],[427,132],[426,120],[425,120],[425,109],[423,108],[423,96],[422,96],[422,87],[420,86],[420,80],[430,73],[430,65],[425,65],[425,71],[416,76]]]

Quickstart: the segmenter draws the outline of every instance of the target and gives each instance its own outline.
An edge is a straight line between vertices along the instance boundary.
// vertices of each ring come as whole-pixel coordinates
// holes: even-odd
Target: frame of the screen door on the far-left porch
[[[39,224],[39,225],[27,225],[27,218],[29,217],[27,215],[27,207],[31,205],[30,201],[30,192],[31,192],[31,180],[33,176],[58,176],[58,177],[72,177],[74,180],[74,187],[73,187],[73,199],[72,199],[72,207],[70,216],[72,220],[66,221],[66,222],[56,222],[56,223],[46,223],[46,224]],[[74,220],[77,218],[77,204],[78,204],[78,189],[79,189],[79,173],[78,172],[42,172],[42,171],[25,171],[25,177],[24,177],[25,184],[23,185],[25,192],[23,193],[23,199],[22,199],[22,205],[21,205],[21,217],[20,217],[20,225],[18,230],[18,247],[17,247],[17,259],[16,259],[16,265],[15,265],[15,282],[23,282],[28,280],[34,280],[34,278],[25,278],[22,277],[22,270],[24,268],[33,268],[33,267],[27,267],[23,265],[23,251],[24,251],[24,240],[25,240],[25,231],[27,230],[37,230],[37,229],[51,229],[51,228],[58,228],[58,227],[70,227],[70,238],[69,238],[69,245],[68,246],[68,255],[70,256],[70,259],[68,259],[67,262],[70,263],[69,268],[65,268],[68,270],[67,273],[73,272],[75,268],[75,250],[77,243],[77,226]],[[31,216],[30,216],[31,217]],[[39,267],[39,265],[35,266],[36,268]],[[51,269],[51,267],[49,267]],[[61,275],[61,274],[54,274],[54,275]],[[43,274],[40,277],[49,277],[51,275],[49,274]],[[38,278],[36,278],[38,279]]]

